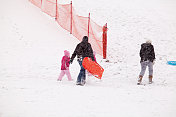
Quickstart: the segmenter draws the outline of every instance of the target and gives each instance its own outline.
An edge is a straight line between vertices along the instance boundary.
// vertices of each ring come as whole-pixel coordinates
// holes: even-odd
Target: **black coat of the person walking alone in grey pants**
[[[153,62],[155,60],[154,47],[151,43],[143,43],[141,45],[140,57],[141,57],[141,62],[147,61],[147,60]]]

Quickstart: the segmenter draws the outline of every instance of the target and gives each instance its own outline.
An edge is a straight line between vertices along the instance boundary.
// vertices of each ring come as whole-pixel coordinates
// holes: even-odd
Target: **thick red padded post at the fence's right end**
[[[107,54],[107,23],[103,26],[103,59],[106,59]]]

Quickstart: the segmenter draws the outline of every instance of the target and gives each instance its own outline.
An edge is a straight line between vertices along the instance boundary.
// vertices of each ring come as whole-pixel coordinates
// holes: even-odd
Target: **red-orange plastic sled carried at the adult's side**
[[[93,76],[101,79],[104,69],[95,61],[92,61],[91,58],[85,57],[83,59],[82,65],[84,69],[90,72]]]

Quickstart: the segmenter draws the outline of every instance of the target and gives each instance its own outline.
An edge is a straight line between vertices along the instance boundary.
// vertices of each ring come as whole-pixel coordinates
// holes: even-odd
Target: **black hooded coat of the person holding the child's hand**
[[[72,54],[72,57],[70,59],[70,62],[72,63],[73,59],[76,57],[78,59],[82,59],[84,57],[90,57],[93,61],[94,60],[94,56],[93,56],[93,50],[91,47],[91,44],[88,42],[88,37],[84,36],[82,39],[82,42],[80,42],[76,48],[75,51]]]

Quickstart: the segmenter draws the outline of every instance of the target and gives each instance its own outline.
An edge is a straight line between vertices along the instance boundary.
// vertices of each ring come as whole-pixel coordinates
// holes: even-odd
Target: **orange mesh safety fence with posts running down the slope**
[[[94,51],[106,58],[107,49],[107,24],[97,25],[88,17],[76,14],[71,4],[58,4],[58,0],[29,0],[31,3],[41,8],[41,10],[51,17],[55,17],[57,23],[69,31],[78,40],[83,36],[89,37],[89,42]]]

